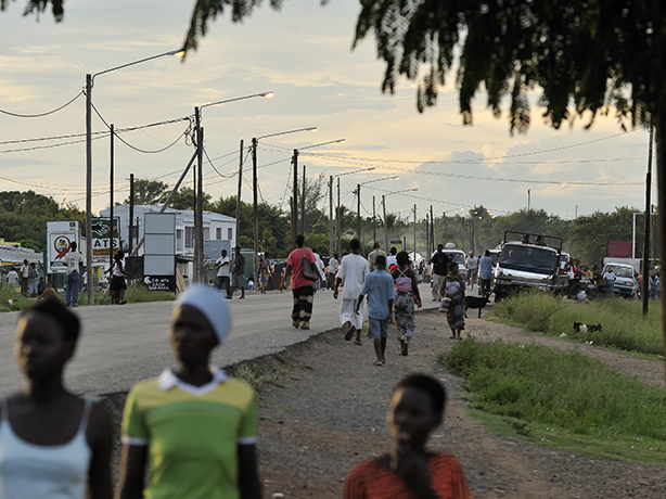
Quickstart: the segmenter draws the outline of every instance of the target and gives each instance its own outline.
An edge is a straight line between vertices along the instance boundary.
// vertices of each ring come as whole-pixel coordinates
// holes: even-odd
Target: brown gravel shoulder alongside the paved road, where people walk
[[[657,361],[539,336],[476,317],[468,319],[465,334],[481,341],[503,338],[560,349],[578,348],[628,375],[652,383],[663,383],[664,379],[663,363]],[[395,327],[389,328],[389,335],[384,367],[373,364],[370,341],[364,340],[361,346],[345,342],[340,329],[281,354],[245,362],[251,370],[257,364],[261,372],[274,373],[259,391],[258,448],[266,498],[340,498],[351,466],[387,450],[386,410],[392,389],[400,378],[413,371],[430,372],[446,385],[447,414],[431,447],[458,457],[477,499],[666,497],[666,466],[592,459],[487,432],[464,412],[462,380],[436,363],[437,355],[454,343],[448,338],[441,315],[417,314],[408,357],[398,355]],[[123,401],[124,394],[104,401],[116,427]]]

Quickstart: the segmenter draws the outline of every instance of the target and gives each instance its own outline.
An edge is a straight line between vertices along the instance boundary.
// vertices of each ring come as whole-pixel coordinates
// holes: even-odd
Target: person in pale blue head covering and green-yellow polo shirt
[[[169,328],[178,367],[127,396],[118,499],[261,497],[255,393],[210,364],[230,329],[219,291],[193,285],[178,297]]]

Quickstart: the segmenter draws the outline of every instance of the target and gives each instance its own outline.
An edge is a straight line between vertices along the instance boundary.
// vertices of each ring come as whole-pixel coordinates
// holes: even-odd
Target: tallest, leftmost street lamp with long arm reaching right
[[[92,305],[92,87],[94,78],[113,71],[123,69],[125,67],[141,64],[153,59],[164,57],[165,55],[183,56],[184,50],[171,50],[151,57],[141,59],[139,61],[123,64],[91,75],[86,75],[86,258],[88,261],[86,268],[86,281],[88,289],[88,305]],[[113,225],[113,220],[112,220]]]

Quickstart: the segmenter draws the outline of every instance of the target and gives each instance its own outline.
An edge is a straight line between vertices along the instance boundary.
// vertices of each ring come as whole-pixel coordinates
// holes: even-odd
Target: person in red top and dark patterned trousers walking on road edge
[[[304,260],[309,263],[309,269],[312,271],[309,279],[304,274]],[[286,259],[286,268],[282,274],[280,290],[284,290],[284,281],[291,276],[292,278],[292,295],[294,296],[294,307],[292,308],[292,325],[294,328],[310,329],[310,318],[312,317],[312,304],[315,303],[315,289],[319,280],[317,270],[317,259],[309,247],[305,247],[305,238],[302,234],[296,235],[296,248],[289,254]],[[307,265],[307,264],[306,264]]]

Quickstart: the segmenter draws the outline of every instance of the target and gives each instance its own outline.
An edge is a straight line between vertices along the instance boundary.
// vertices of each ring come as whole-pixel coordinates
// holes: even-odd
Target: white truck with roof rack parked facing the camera
[[[495,300],[520,291],[566,293],[568,277],[559,272],[562,243],[552,235],[505,231],[495,267]]]

